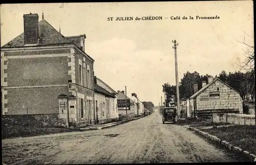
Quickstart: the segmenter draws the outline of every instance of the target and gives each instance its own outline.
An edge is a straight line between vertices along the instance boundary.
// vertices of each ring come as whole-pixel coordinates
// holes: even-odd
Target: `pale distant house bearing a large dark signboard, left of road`
[[[125,93],[124,91],[117,91],[117,108],[119,115],[126,115],[125,108],[127,107],[127,114],[137,114],[137,105],[136,103],[129,97],[126,96],[126,107],[125,107]]]

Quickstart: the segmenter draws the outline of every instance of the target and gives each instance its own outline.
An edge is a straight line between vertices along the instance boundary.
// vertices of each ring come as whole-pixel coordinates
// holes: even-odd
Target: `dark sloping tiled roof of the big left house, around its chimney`
[[[38,45],[55,45],[55,44],[67,44],[72,43],[68,38],[62,36],[53,26],[46,20],[40,20],[38,22],[38,35],[39,43]],[[24,33],[18,35],[16,38],[2,46],[3,48],[8,47],[23,47],[24,46]]]

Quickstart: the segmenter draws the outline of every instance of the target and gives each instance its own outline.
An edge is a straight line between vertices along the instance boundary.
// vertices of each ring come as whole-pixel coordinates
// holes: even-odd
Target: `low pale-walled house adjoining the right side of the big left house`
[[[118,120],[117,92],[96,76],[94,76],[94,91],[96,123]]]

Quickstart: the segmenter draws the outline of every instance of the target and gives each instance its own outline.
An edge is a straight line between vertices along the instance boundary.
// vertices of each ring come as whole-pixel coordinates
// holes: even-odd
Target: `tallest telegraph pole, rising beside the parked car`
[[[177,94],[177,117],[180,118],[180,92],[179,92],[179,78],[178,78],[178,62],[177,62],[177,46],[178,43],[176,40],[173,41],[174,43],[174,55],[175,55],[175,72],[176,72],[176,94]]]

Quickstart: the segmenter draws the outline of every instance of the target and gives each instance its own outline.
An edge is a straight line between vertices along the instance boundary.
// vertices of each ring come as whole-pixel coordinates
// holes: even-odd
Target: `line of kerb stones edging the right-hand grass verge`
[[[206,132],[203,132],[197,128],[193,128],[193,127],[187,127],[187,129],[192,130],[204,137],[206,137],[208,140],[215,142],[216,144],[220,145],[220,146],[224,146],[226,149],[231,150],[235,153],[241,154],[247,158],[249,158],[249,160],[251,161],[256,161],[256,155],[249,153],[248,151],[244,151],[239,147],[233,146],[230,143],[228,143],[227,141],[222,141],[221,139],[219,139],[217,136],[208,134]]]

